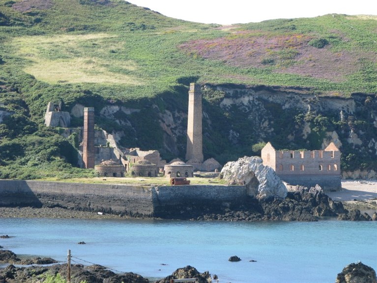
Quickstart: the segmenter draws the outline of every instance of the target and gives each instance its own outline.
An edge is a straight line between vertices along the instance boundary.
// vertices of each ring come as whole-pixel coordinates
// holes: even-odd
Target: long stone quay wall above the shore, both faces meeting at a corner
[[[153,216],[172,205],[239,203],[245,186],[132,186],[0,180],[0,206],[69,207],[105,213]]]

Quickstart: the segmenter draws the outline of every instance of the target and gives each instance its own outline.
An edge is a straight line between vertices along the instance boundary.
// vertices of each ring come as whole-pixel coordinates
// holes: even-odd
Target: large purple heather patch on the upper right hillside
[[[236,67],[272,67],[290,73],[340,82],[359,69],[360,58],[376,61],[376,54],[352,51],[333,52],[331,46],[308,45],[313,36],[299,33],[276,34],[265,31],[237,31],[211,40],[182,44],[192,56],[219,60]]]

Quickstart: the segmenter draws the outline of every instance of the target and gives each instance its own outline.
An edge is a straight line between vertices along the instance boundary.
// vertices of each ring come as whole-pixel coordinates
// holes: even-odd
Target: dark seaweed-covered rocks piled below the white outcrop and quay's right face
[[[298,188],[285,198],[247,197],[239,203],[184,203],[160,206],[156,217],[165,219],[226,220],[226,221],[317,221],[320,217],[340,217],[344,220],[364,220],[367,216],[351,217],[341,202],[334,202],[320,187]],[[352,213],[351,213],[352,214]]]

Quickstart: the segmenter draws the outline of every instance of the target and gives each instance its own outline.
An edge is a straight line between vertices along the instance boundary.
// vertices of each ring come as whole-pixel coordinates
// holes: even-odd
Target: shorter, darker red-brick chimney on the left
[[[84,108],[83,161],[85,168],[94,168],[94,108]]]

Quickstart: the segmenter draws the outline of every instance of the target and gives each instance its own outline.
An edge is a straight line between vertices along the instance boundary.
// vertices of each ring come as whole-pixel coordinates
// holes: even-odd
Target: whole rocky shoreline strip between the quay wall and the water
[[[288,192],[285,198],[250,197],[242,204],[185,203],[165,206],[164,210],[157,211],[155,216],[159,219],[172,220],[226,221],[316,221],[322,217],[333,217],[338,220],[377,220],[377,213],[370,216],[361,213],[357,207],[346,209],[342,202],[333,201],[321,189],[302,188]],[[124,214],[98,214],[94,211],[63,207],[0,207],[0,218],[129,219],[131,217]]]

